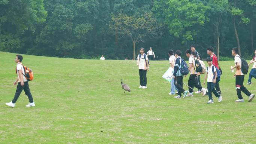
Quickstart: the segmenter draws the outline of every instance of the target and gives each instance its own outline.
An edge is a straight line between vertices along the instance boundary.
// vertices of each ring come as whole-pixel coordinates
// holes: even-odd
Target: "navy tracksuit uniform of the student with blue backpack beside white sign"
[[[175,76],[174,85],[178,89],[178,95],[179,96],[181,96],[182,93],[185,92],[185,89],[183,89],[183,75],[180,73],[180,67],[181,67],[181,63],[182,63],[181,59],[182,58],[179,56],[175,60],[174,72],[173,72],[173,76]]]

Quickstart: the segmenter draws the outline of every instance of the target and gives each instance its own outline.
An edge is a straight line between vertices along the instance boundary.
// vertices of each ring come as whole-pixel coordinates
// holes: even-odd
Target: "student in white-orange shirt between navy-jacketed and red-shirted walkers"
[[[190,71],[190,76],[188,80],[188,86],[189,86],[189,94],[188,96],[193,96],[193,88],[196,87],[199,90],[201,90],[202,94],[205,95],[207,89],[202,88],[202,86],[199,86],[198,80],[197,80],[197,72],[195,71],[195,58],[192,55],[191,49],[186,50],[186,56],[189,58],[189,71]],[[192,89],[191,89],[192,88]]]

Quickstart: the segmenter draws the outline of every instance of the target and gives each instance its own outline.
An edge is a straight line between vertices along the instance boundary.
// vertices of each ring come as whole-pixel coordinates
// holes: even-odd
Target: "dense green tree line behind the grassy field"
[[[32,55],[132,59],[140,47],[231,48],[250,58],[256,0],[0,0],[0,50]]]

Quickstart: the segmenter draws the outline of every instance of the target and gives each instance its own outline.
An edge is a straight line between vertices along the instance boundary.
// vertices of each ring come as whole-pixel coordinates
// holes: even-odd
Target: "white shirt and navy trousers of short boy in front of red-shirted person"
[[[213,68],[213,69],[212,69]],[[206,68],[205,72],[208,74],[207,75],[207,90],[208,90],[208,96],[209,96],[209,100],[213,100],[213,96],[211,94],[211,92],[213,92],[213,94],[219,98],[220,95],[219,93],[216,91],[215,89],[215,83],[213,83],[214,79],[215,79],[215,72],[217,72],[216,67],[214,65],[211,65],[210,67]]]

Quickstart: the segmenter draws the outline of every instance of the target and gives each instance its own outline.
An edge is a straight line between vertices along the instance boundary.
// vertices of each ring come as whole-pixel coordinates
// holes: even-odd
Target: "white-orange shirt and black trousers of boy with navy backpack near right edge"
[[[240,67],[236,68],[236,72],[235,72],[235,87],[237,89],[237,96],[239,99],[243,99],[242,93],[241,91],[246,94],[247,96],[252,95],[252,93],[250,93],[247,88],[244,86],[244,74],[241,71],[241,67],[242,67],[242,61],[241,58],[239,57],[239,55],[235,56],[235,65],[239,63]]]

